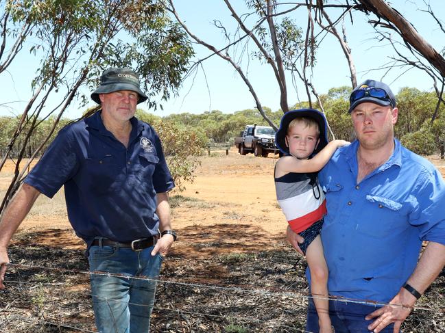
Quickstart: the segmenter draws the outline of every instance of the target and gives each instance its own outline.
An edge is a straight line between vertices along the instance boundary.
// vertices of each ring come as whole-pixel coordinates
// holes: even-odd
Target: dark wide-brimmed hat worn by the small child
[[[328,144],[328,122],[326,121],[324,114],[315,109],[297,109],[287,111],[281,117],[280,128],[275,133],[275,144],[283,154],[289,155],[289,147],[286,145],[287,128],[289,127],[290,122],[298,117],[313,118],[320,128],[320,142],[318,143],[317,148],[315,148],[313,151],[311,155],[313,156],[317,154],[317,152],[320,152],[320,150],[322,150],[324,147],[326,147],[326,144]]]

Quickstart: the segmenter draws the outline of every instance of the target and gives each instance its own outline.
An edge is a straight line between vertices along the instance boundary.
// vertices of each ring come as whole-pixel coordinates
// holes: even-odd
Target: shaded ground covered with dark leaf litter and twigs
[[[0,332],[95,332],[83,250],[35,243],[65,232],[22,233],[10,247]],[[182,230],[193,241],[163,265],[151,332],[304,332],[306,261],[285,243],[243,245],[252,232],[235,243],[218,232]],[[429,310],[414,310],[404,332],[444,332],[444,291],[442,271],[416,304]]]

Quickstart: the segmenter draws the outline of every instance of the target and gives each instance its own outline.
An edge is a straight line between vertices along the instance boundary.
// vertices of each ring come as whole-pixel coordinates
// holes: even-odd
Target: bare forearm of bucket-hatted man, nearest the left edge
[[[27,184],[23,184],[12,198],[0,219],[0,247],[8,248],[9,242],[19,228],[23,219],[32,208],[40,192]]]

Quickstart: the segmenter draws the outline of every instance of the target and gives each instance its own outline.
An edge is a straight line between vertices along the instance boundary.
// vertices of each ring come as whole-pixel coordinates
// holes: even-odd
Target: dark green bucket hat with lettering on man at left
[[[99,87],[91,94],[91,98],[100,104],[99,94],[109,94],[118,90],[130,90],[139,94],[138,104],[147,100],[147,95],[139,88],[139,76],[130,68],[110,68],[104,70],[100,77]]]

